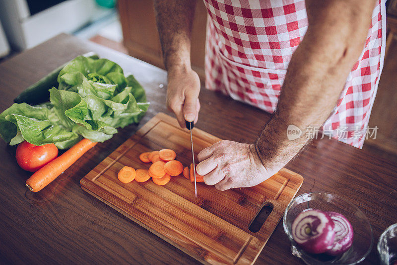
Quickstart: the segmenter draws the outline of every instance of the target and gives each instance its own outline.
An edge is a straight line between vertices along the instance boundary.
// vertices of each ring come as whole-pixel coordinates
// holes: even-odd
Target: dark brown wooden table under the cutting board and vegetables
[[[0,141],[0,261],[33,264],[197,264],[117,211],[84,192],[79,181],[165,107],[166,72],[125,54],[66,34],[0,64],[0,111],[27,86],[75,56],[95,51],[119,63],[142,84],[151,102],[139,125],[98,144],[38,193],[25,187],[30,173],[15,163],[15,147]],[[197,127],[219,138],[252,142],[269,114],[202,89]],[[336,140],[316,140],[286,168],[305,180],[298,194],[328,191],[358,205],[377,243],[397,222],[397,166]],[[378,263],[376,246],[363,264]],[[256,264],[303,264],[290,254],[282,222]]]

